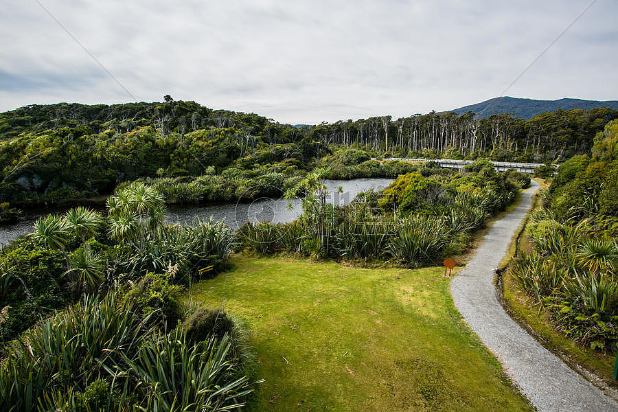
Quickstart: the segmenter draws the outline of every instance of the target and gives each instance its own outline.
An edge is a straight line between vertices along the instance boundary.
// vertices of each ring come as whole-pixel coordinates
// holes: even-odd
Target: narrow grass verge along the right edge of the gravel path
[[[540,183],[539,190],[547,187],[542,180],[535,180]],[[538,194],[535,194],[531,208],[513,234],[507,253],[499,264],[500,276],[497,279],[499,300],[510,317],[534,336],[543,347],[562,359],[586,380],[604,390],[606,395],[618,400],[618,382],[613,380],[615,357],[593,352],[561,334],[551,321],[547,310],[521,290],[507,271],[519,250],[522,238],[526,238],[529,216],[538,207],[540,201]]]

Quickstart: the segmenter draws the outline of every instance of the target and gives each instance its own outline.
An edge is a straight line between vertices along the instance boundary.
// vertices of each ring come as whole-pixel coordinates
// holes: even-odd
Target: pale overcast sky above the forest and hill
[[[3,0],[0,111],[166,94],[290,124],[447,111],[501,95],[590,4]],[[618,100],[616,16],[595,1],[504,95]]]

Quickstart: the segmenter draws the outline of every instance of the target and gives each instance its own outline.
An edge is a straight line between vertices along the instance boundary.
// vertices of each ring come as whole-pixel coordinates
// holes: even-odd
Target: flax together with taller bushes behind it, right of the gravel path
[[[571,339],[593,350],[618,348],[618,245],[613,203],[604,193],[606,161],[573,157],[560,167],[543,198],[547,209],[531,216],[532,253],[520,253],[514,279]],[[575,224],[577,222],[577,224]]]

